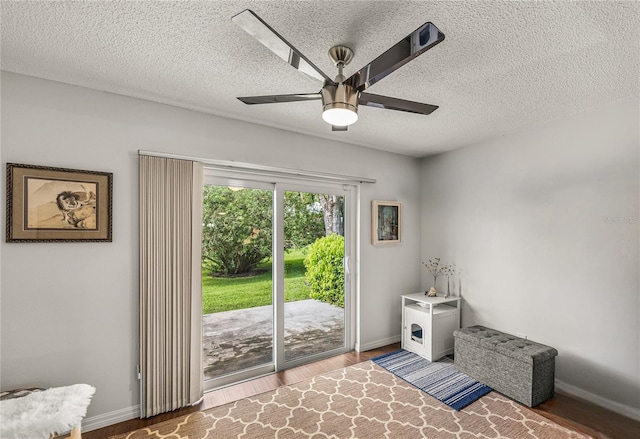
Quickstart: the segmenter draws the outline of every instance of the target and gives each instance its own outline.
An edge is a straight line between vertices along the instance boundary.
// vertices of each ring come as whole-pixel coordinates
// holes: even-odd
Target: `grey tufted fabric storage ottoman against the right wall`
[[[479,325],[453,335],[461,372],[529,407],[553,396],[554,348]]]

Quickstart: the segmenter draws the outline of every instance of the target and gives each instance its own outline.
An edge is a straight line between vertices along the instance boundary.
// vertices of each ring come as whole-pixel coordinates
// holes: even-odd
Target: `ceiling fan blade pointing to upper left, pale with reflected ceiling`
[[[252,10],[245,9],[231,20],[244,29],[249,35],[262,43],[267,49],[291,64],[296,69],[320,81],[334,81],[316,67],[298,49],[293,47],[271,26],[265,23]]]

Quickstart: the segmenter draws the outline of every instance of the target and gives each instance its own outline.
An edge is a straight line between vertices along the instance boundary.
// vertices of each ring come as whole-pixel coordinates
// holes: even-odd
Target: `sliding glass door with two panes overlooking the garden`
[[[351,349],[349,188],[215,174],[203,206],[205,389]]]

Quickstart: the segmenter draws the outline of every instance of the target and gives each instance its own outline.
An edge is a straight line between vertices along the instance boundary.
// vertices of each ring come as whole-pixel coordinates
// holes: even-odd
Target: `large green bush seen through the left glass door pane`
[[[235,275],[255,270],[271,256],[271,191],[205,186],[203,197],[205,267]]]

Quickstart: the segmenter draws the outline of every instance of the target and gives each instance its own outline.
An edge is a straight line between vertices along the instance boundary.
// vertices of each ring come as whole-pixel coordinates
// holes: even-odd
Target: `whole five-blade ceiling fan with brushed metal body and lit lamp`
[[[231,20],[291,66],[324,82],[318,93],[239,97],[245,104],[322,99],[322,118],[332,126],[333,131],[346,131],[349,125],[355,123],[359,105],[417,114],[431,114],[438,108],[437,105],[365,92],[385,76],[444,40],[444,34],[430,22],[411,32],[349,78],[343,75],[343,68],[353,59],[353,51],[345,46],[332,47],[329,57],[338,68],[338,75],[331,79],[253,11],[246,9]]]

